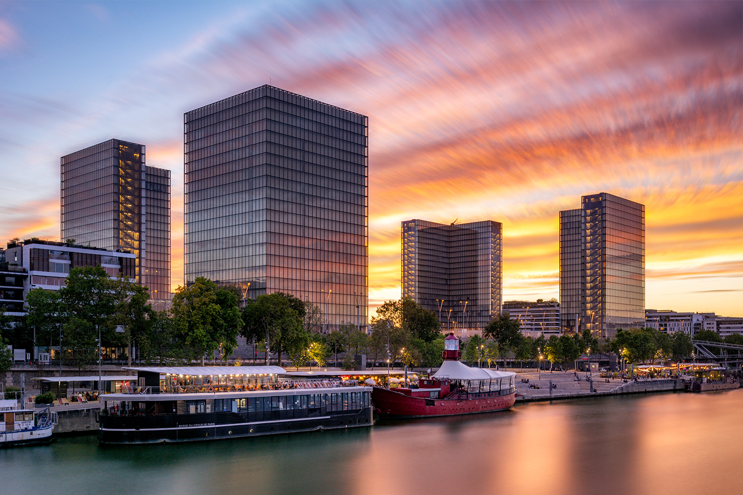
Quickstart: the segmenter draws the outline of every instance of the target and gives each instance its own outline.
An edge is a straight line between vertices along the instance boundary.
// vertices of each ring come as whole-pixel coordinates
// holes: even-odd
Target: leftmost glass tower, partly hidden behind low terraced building
[[[108,140],[60,160],[62,240],[132,252],[137,281],[170,298],[170,171],[145,165],[145,147]]]

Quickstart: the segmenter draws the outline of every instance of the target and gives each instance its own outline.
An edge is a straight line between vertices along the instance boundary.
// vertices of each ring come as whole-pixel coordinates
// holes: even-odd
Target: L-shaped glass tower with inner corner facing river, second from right
[[[501,311],[502,224],[402,223],[402,295],[439,317],[443,330],[480,332]]]

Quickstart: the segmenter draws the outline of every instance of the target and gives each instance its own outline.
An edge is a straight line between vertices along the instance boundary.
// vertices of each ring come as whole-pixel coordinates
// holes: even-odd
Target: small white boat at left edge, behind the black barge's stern
[[[0,399],[0,447],[51,442],[56,413],[49,407],[23,409],[18,401]]]

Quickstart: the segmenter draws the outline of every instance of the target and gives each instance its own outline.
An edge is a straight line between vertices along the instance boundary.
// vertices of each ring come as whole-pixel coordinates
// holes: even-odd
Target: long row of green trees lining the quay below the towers
[[[132,347],[138,358],[149,364],[180,364],[218,355],[233,355],[238,338],[253,344],[257,352],[275,361],[295,366],[317,361],[327,366],[332,355],[344,355],[343,366],[354,366],[353,356],[366,354],[371,366],[401,362],[409,367],[438,367],[444,350],[441,323],[435,313],[410,298],[386,301],[371,318],[369,333],[348,322],[325,334],[324,315],[309,301],[282,292],[241,300],[235,286],[218,286],[197,278],[181,286],[169,309],[155,311],[148,302],[149,291],[123,278],[110,278],[100,266],[70,270],[65,286],[58,291],[33,289],[26,298],[27,318],[12,326],[0,315],[0,343],[13,341],[16,347],[36,345],[58,347],[62,361],[80,369],[96,364],[98,336],[104,350],[126,349],[132,364]],[[699,332],[695,338],[722,341],[715,332]],[[725,341],[741,343],[743,336]],[[569,362],[589,352],[614,353],[630,362],[689,358],[690,337],[683,332],[666,334],[650,328],[620,330],[611,341],[600,341],[590,332],[582,335],[525,337],[519,322],[507,312],[496,315],[482,336],[461,341],[464,361],[537,361],[540,356],[552,363]],[[281,356],[280,361],[277,356]],[[105,353],[103,358],[110,356]],[[0,366],[9,366],[10,355],[0,349]]]

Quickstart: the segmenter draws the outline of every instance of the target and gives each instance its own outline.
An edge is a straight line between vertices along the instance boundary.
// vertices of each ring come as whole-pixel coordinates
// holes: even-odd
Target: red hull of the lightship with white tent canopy
[[[455,416],[505,410],[516,402],[516,393],[470,400],[447,400],[411,397],[395,392],[395,390],[374,387],[371,390],[371,402],[374,404],[374,410],[381,416],[427,418],[430,416]]]

